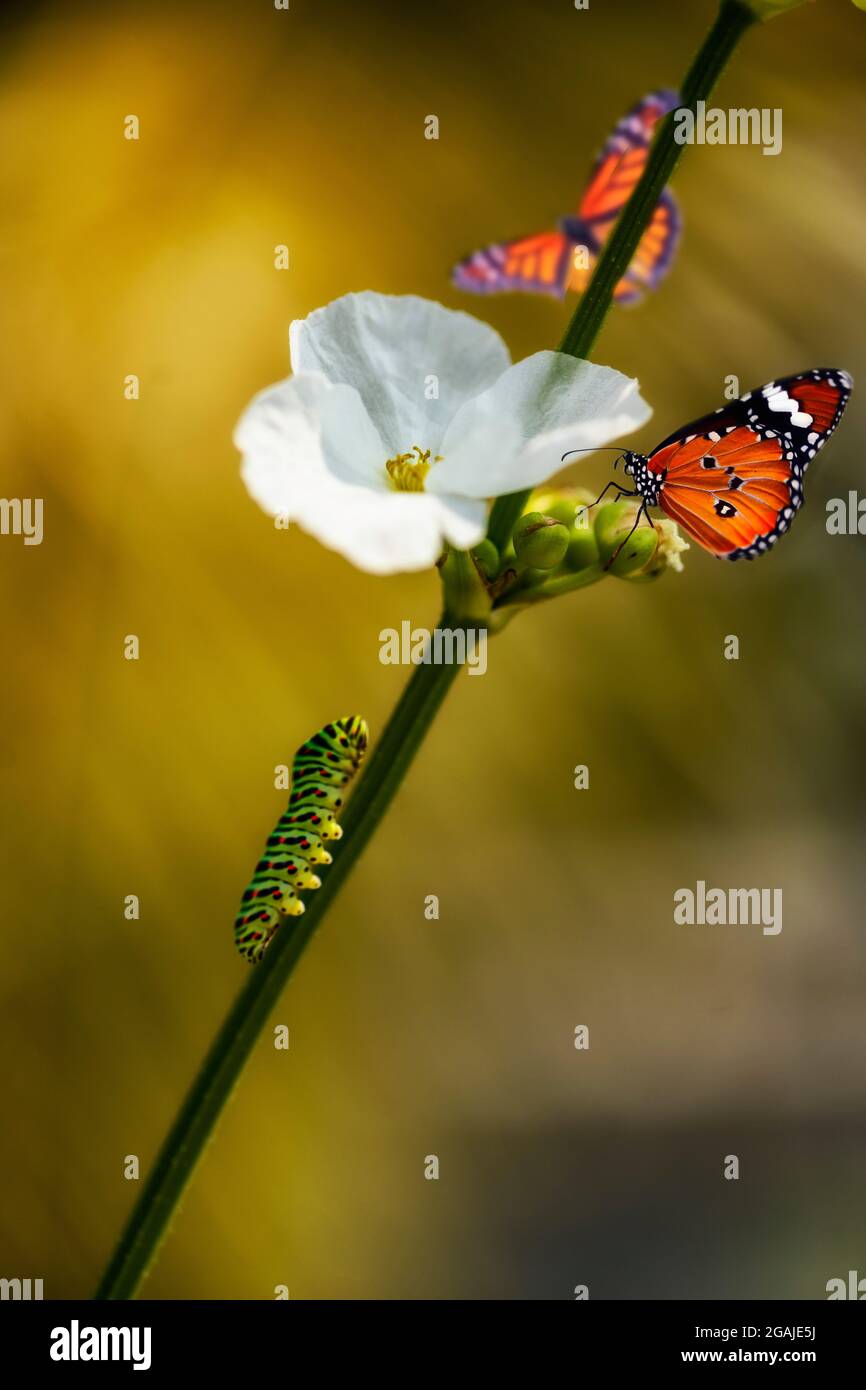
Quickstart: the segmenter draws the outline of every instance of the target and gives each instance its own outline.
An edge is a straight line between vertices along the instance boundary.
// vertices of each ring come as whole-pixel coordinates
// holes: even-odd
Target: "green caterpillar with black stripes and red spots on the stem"
[[[252,965],[261,960],[282,920],[304,910],[297,890],[321,888],[310,866],[331,863],[324,841],[342,835],[334,812],[366,751],[367,724],[352,714],[325,724],[295,753],[289,805],[268,837],[235,919],[235,945]]]

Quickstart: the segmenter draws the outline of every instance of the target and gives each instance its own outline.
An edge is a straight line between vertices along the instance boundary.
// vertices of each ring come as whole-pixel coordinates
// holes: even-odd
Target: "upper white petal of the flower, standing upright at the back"
[[[289,345],[296,373],[321,373],[356,388],[386,457],[416,443],[441,453],[460,406],[510,363],[499,334],[480,318],[417,295],[371,291],[343,295],[295,320]]]

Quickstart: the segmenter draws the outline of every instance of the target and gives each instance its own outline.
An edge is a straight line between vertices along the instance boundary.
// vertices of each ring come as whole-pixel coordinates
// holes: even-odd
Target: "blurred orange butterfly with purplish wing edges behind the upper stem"
[[[564,217],[555,232],[539,232],[514,242],[495,242],[461,260],[452,272],[457,289],[475,295],[525,291],[555,295],[581,293],[599,252],[638,182],[657,122],[680,104],[676,92],[651,92],[624,115],[599,154],[577,217]],[[614,299],[632,303],[655,289],[666,275],[680,236],[680,213],[664,189],[652,221],[619,282]]]

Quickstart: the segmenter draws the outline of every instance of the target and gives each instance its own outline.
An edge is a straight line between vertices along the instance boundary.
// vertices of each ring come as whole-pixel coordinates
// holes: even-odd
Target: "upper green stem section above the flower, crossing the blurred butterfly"
[[[716,22],[701,44],[680,89],[681,107],[694,110],[698,101],[709,99],[731,53],[755,22],[752,11],[740,0],[723,0]],[[592,278],[563,334],[559,352],[571,357],[587,357],[592,352],[613,303],[613,292],[628,270],[659,197],[685,149],[674,139],[674,131],[671,111],[649,152],[644,174],[605,243]],[[531,489],[512,492],[493,503],[488,535],[499,549],[510,539],[530,495]]]

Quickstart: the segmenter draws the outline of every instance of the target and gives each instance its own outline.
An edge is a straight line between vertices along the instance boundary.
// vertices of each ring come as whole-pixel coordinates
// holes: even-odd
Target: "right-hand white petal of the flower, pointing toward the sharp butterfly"
[[[464,498],[534,488],[566,449],[598,449],[652,414],[638,382],[557,352],[518,361],[452,420],[427,486]]]

